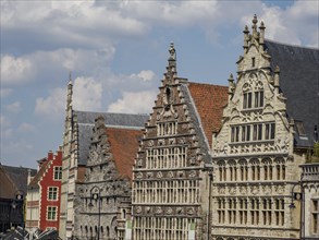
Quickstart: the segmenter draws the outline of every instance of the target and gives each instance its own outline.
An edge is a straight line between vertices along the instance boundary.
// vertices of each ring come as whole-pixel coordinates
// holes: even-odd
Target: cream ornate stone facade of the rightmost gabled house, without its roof
[[[265,50],[265,25],[244,29],[237,81],[229,80],[223,125],[213,135],[212,239],[298,239],[289,208],[298,181],[294,122],[287,119],[279,67]]]

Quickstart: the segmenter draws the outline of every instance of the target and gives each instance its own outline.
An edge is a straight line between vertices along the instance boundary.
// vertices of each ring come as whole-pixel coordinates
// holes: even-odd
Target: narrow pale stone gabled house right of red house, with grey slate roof
[[[62,187],[59,227],[59,236],[65,240],[73,238],[75,235],[75,226],[81,225],[75,223],[75,208],[78,207],[76,205],[78,202],[76,202],[77,200],[75,196],[78,195],[77,183],[83,182],[84,175],[86,172],[86,165],[89,159],[90,140],[97,117],[103,117],[106,127],[126,129],[142,129],[148,119],[148,116],[145,115],[74,110],[72,107],[72,95],[73,84],[70,76],[63,134]],[[91,157],[94,158],[100,156],[91,155]],[[127,202],[127,200],[125,200],[125,202]],[[85,225],[83,226],[85,227]],[[76,230],[76,232],[78,233],[78,230]]]

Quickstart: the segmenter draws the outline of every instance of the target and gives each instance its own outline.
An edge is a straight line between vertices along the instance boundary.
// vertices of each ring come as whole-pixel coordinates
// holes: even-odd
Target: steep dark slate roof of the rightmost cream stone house
[[[266,40],[272,69],[280,68],[280,88],[287,98],[287,115],[303,122],[306,136],[295,128],[295,145],[312,146],[319,128],[319,49]]]

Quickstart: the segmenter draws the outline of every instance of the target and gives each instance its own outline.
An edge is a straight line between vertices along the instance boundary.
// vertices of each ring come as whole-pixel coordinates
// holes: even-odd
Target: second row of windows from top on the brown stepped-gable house
[[[161,147],[146,151],[146,168],[181,168],[186,167],[187,147]]]

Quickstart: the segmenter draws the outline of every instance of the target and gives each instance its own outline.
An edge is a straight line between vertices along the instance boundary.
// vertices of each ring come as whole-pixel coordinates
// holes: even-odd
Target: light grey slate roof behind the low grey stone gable
[[[78,160],[79,166],[85,166],[88,159],[88,151],[90,145],[90,139],[93,135],[93,128],[95,119],[98,116],[105,118],[105,124],[111,128],[131,128],[142,129],[148,121],[148,115],[127,115],[127,113],[111,113],[111,112],[90,112],[90,111],[77,111],[74,110],[74,115],[77,117],[78,124]]]

